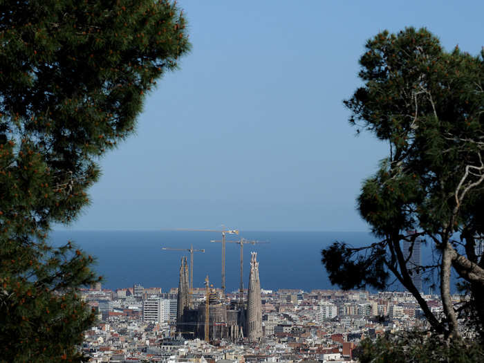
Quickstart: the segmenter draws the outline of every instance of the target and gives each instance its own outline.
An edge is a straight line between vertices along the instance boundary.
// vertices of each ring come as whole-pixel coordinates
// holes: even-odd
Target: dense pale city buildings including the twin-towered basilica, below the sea
[[[409,292],[266,290],[257,253],[250,256],[248,288],[241,283],[233,292],[214,288],[208,277],[205,288],[193,288],[187,257],[180,261],[178,287],[169,291],[138,283],[82,290],[97,314],[96,326],[84,333],[83,353],[95,363],[350,363],[357,362],[355,349],[365,337],[427,326]],[[409,263],[421,264],[419,248]],[[420,275],[415,279],[421,286]],[[422,296],[433,313],[442,313],[438,295]]]

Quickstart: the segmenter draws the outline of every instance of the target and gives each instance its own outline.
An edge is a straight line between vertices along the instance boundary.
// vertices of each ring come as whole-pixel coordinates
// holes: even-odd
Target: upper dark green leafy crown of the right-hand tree
[[[390,143],[391,155],[364,182],[360,212],[381,236],[394,223],[439,231],[465,166],[480,165],[483,59],[458,48],[446,53],[424,29],[382,32],[366,48],[365,86],[345,104],[353,122]]]

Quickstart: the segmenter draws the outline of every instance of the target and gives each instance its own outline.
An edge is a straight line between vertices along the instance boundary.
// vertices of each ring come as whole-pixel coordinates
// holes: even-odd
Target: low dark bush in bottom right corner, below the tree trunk
[[[477,342],[409,332],[363,339],[353,356],[361,363],[478,363],[484,361],[484,349]]]

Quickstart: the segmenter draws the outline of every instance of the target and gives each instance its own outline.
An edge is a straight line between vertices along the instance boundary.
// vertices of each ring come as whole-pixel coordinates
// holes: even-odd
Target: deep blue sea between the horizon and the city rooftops
[[[334,289],[321,263],[321,250],[335,241],[355,247],[376,241],[368,232],[261,232],[243,231],[240,236],[227,234],[225,290],[239,288],[240,248],[230,243],[240,237],[264,243],[245,244],[243,248],[244,286],[247,288],[250,252],[257,252],[261,288],[310,291]],[[162,250],[163,247],[205,250],[194,252],[194,288],[203,288],[208,275],[214,287],[221,286],[221,240],[217,232],[193,231],[75,231],[57,230],[50,241],[62,245],[72,241],[95,258],[94,269],[102,275],[104,288],[117,289],[140,283],[163,292],[178,287],[180,260],[188,251]],[[422,256],[423,258],[423,256]],[[392,290],[401,290],[394,285]]]

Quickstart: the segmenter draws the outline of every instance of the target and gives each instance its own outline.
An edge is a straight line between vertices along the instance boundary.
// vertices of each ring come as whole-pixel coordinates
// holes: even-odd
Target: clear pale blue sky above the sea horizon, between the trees
[[[425,26],[477,54],[484,1],[178,1],[192,52],[158,82],[136,136],[106,155],[75,230],[364,231],[362,180],[387,146],[342,100],[380,30]]]

